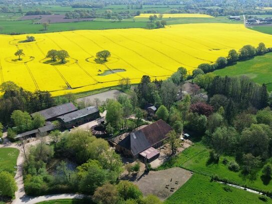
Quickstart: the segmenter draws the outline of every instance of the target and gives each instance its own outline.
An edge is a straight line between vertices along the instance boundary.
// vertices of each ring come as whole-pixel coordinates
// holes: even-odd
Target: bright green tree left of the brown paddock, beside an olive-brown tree
[[[143,196],[139,187],[132,182],[121,180],[117,184],[117,191],[121,198],[124,200],[128,199],[138,199]]]

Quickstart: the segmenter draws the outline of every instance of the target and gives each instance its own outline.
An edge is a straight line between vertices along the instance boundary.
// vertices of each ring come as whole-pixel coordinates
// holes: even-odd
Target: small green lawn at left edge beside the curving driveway
[[[14,166],[17,163],[19,149],[16,148],[0,148],[0,171],[8,171],[15,175]]]

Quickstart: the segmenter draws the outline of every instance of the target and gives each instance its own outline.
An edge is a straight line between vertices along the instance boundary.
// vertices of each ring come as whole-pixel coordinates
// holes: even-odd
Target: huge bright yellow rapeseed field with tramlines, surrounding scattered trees
[[[53,96],[118,85],[129,77],[132,83],[143,75],[166,79],[178,67],[189,73],[199,64],[227,56],[230,49],[263,42],[272,46],[272,36],[235,24],[186,24],[162,29],[85,30],[31,34],[36,41],[20,43],[27,35],[0,36],[0,82],[14,81],[26,90],[50,91]],[[23,49],[18,61],[14,53]],[[64,65],[52,65],[49,50],[67,50]],[[97,64],[95,55],[109,50],[112,56]],[[115,72],[119,70],[122,72]]]

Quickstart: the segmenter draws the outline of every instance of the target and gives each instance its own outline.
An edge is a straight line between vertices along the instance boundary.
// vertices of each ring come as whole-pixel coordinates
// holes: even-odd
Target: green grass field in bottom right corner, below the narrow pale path
[[[164,203],[264,203],[258,197],[258,194],[211,182],[208,176],[194,173]],[[265,203],[272,203],[271,198],[267,197],[267,199]]]

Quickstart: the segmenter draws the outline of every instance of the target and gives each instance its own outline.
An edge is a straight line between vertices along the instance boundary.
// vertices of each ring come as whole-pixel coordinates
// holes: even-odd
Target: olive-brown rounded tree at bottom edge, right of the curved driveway
[[[110,183],[98,187],[92,198],[98,204],[116,204],[119,200],[116,186]]]

